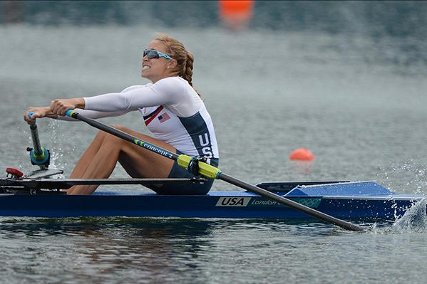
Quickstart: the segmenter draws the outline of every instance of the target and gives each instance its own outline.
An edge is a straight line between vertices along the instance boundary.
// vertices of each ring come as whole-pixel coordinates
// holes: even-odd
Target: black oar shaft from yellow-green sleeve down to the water
[[[279,204],[287,205],[289,207],[292,207],[293,209],[297,209],[299,211],[302,211],[305,214],[314,216],[314,217],[321,219],[321,220],[324,220],[324,221],[328,221],[329,223],[333,223],[334,225],[340,226],[341,228],[345,228],[346,230],[364,231],[364,228],[362,228],[361,226],[357,226],[353,223],[349,223],[346,221],[342,221],[340,219],[336,219],[333,216],[329,216],[329,215],[324,214],[320,211],[314,210],[308,206],[304,206],[302,204],[299,204],[298,202],[284,198],[282,196],[274,194],[274,193],[267,191],[265,189],[261,189],[257,186],[253,186],[252,184],[247,184],[246,182],[242,182],[240,179],[236,179],[235,177],[231,177],[227,174],[220,173],[219,179],[222,179],[223,181],[228,182],[230,184],[234,184],[235,186],[239,186],[242,189],[246,189],[248,191],[259,194],[260,196],[264,196],[268,199],[272,199],[274,201],[277,201],[277,202],[279,202]]]

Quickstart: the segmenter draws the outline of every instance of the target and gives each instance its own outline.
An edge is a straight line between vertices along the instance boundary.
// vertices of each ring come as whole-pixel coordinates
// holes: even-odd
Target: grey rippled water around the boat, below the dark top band
[[[32,169],[26,107],[145,83],[140,56],[156,31],[195,54],[227,174],[427,194],[426,41],[315,29],[0,26],[0,169]],[[137,113],[103,121],[147,133]],[[79,122],[38,127],[66,175],[96,134]],[[314,162],[290,162],[298,147]],[[365,233],[302,220],[0,217],[0,271],[5,283],[425,283],[427,222],[413,212]]]

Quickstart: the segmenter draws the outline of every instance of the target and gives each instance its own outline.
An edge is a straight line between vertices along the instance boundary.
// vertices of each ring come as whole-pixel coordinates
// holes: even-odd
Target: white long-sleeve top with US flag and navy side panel
[[[138,110],[156,139],[190,156],[219,158],[215,130],[205,104],[180,77],[133,85],[120,93],[84,100],[85,109],[78,110],[82,115],[96,119]]]

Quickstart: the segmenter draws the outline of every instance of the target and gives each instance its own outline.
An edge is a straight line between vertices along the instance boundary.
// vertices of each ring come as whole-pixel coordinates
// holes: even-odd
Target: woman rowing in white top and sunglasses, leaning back
[[[160,34],[143,53],[141,75],[152,83],[133,85],[120,93],[56,99],[47,107],[29,107],[24,120],[29,123],[40,117],[71,120],[63,115],[66,110],[75,108],[81,115],[91,118],[138,110],[153,137],[124,126],[115,128],[170,152],[205,157],[207,163],[217,167],[219,155],[212,120],[200,95],[192,88],[193,61],[192,53],[180,41]],[[31,118],[29,112],[34,112]],[[70,178],[108,178],[117,162],[134,178],[194,177],[171,159],[100,131],[78,160]],[[150,189],[158,194],[207,194],[212,183],[213,179],[203,184],[165,183],[150,186]],[[67,194],[91,194],[97,187],[72,186]]]

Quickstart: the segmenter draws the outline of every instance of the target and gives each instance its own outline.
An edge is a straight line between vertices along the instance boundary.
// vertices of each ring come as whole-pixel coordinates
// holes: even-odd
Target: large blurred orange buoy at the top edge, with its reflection
[[[253,0],[218,0],[220,19],[233,31],[241,31],[247,27],[252,18]]]

